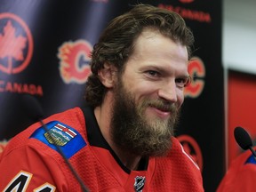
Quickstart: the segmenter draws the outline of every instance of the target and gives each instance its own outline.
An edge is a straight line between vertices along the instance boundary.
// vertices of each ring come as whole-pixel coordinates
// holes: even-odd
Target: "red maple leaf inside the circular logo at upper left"
[[[24,36],[15,36],[15,28],[10,20],[4,26],[3,35],[0,33],[0,58],[7,58],[7,68],[5,71],[12,73],[12,59],[24,60],[22,50],[26,47],[27,38]]]

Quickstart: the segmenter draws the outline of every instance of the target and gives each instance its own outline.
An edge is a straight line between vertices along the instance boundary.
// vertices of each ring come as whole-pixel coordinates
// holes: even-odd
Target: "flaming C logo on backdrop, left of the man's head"
[[[66,84],[84,84],[91,74],[92,45],[84,40],[64,43],[59,48],[60,76]]]

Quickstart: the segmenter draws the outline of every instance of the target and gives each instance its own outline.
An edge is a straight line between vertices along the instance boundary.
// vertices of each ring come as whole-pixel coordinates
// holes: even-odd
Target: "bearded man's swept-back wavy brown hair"
[[[134,5],[129,12],[108,23],[99,42],[93,47],[92,74],[85,86],[85,100],[93,108],[100,106],[107,92],[100,82],[98,71],[104,68],[104,63],[110,63],[117,68],[119,75],[122,74],[124,64],[132,55],[135,41],[145,28],[156,29],[172,41],[185,45],[188,59],[191,57],[194,36],[178,13],[149,4]]]

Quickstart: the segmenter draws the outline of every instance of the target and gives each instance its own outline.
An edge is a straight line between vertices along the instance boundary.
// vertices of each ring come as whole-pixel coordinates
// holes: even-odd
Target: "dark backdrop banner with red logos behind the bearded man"
[[[195,78],[176,132],[201,168],[205,191],[215,191],[225,171],[220,0],[0,0],[0,140],[33,123],[22,94],[39,100],[44,117],[83,106],[93,44],[109,20],[138,3],[180,13],[194,32],[188,70]]]

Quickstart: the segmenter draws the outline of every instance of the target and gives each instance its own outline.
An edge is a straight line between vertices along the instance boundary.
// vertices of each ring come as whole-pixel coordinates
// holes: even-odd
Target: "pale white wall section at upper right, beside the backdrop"
[[[256,0],[223,1],[225,68],[256,75]]]

